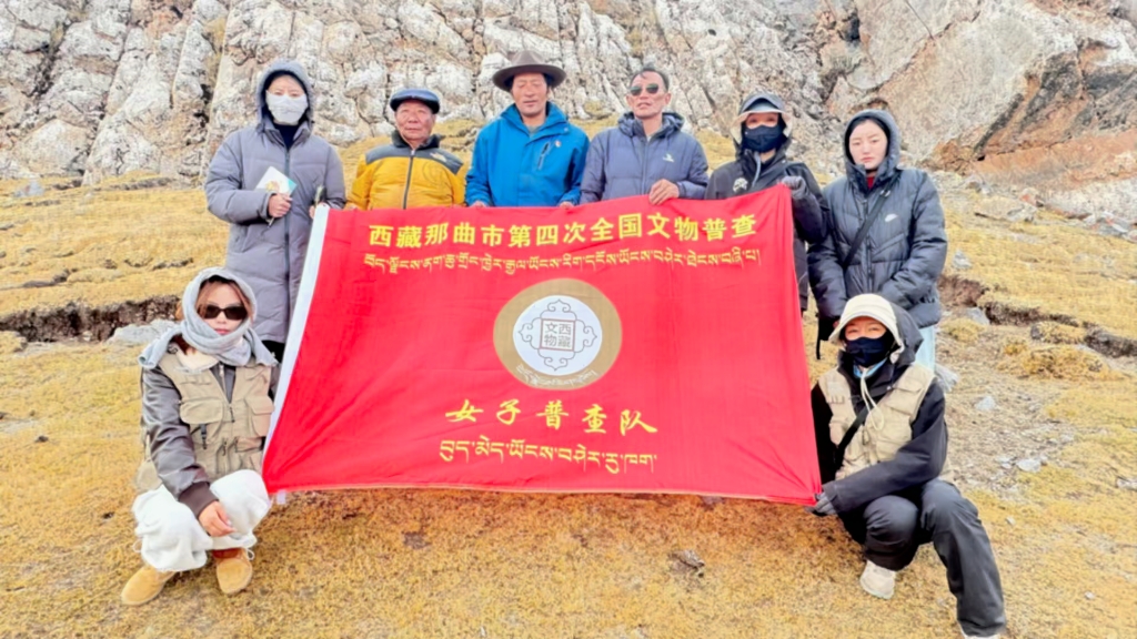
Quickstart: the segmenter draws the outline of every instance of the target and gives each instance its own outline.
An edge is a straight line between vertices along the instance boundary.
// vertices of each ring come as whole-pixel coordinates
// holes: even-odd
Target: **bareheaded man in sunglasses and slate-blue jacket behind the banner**
[[[632,76],[632,110],[597,134],[588,149],[580,204],[630,196],[647,196],[653,205],[703,199],[707,157],[698,140],[682,131],[682,116],[664,111],[671,103],[670,82],[653,67]]]

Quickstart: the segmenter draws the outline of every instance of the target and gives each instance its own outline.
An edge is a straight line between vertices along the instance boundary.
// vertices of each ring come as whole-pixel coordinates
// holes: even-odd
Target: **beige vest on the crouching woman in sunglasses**
[[[211,370],[189,372],[185,363],[200,357],[204,356],[186,356],[176,350],[158,362],[158,367],[174,382],[182,398],[179,413],[190,428],[198,464],[205,468],[209,481],[243,468],[259,473],[262,448],[273,415],[273,400],[268,398],[272,368],[264,365],[236,367],[230,401]],[[135,484],[146,491],[161,486],[161,480],[150,456],[149,438],[144,432],[142,437],[146,456]]]

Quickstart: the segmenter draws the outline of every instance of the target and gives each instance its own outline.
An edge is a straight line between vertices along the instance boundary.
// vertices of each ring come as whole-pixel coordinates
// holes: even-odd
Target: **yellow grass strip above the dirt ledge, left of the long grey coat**
[[[11,190],[10,183],[3,190]],[[30,206],[36,202],[48,204]],[[0,316],[177,292],[201,268],[224,263],[229,233],[206,210],[199,189],[49,191],[0,206],[0,226],[8,224],[0,231]],[[57,277],[66,281],[19,288]]]

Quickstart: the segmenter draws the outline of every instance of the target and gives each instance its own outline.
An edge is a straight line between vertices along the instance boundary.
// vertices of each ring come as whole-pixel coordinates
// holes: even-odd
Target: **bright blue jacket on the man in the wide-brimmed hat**
[[[580,202],[588,135],[549,102],[548,117],[530,134],[513,106],[482,128],[466,174],[466,204],[557,206]]]

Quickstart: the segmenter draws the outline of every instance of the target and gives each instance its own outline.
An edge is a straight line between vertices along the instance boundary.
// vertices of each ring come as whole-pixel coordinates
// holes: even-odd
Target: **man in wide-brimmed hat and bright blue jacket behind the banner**
[[[514,56],[493,74],[493,84],[513,96],[513,106],[478,134],[466,175],[466,204],[563,206],[580,202],[588,135],[568,124],[549,101],[565,72],[530,51]]]

